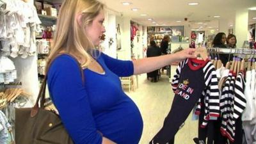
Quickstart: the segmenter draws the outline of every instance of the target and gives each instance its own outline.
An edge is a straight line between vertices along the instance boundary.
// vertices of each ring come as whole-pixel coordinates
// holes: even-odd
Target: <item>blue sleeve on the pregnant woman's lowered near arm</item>
[[[67,55],[59,56],[53,61],[47,77],[52,101],[74,143],[101,144],[102,136],[97,132],[76,60]]]

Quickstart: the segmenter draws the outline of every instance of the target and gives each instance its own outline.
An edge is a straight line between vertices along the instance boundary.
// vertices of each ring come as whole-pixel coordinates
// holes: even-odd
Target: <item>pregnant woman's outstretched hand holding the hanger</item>
[[[179,51],[173,54],[173,56],[175,57],[176,61],[182,61],[186,58],[196,58],[195,50],[196,49],[190,49],[190,48],[184,49],[182,51]]]

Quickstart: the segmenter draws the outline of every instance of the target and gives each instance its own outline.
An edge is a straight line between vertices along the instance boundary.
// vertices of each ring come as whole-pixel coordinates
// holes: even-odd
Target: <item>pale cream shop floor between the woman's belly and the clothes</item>
[[[172,68],[172,74],[175,67]],[[157,83],[147,80],[146,74],[138,76],[139,88],[127,95],[134,100],[143,117],[144,127],[140,144],[147,144],[163,125],[164,118],[170,111],[174,93],[171,90],[168,77],[161,76]],[[193,144],[193,138],[197,136],[198,121],[192,121],[191,115],[184,127],[175,136],[175,144]]]

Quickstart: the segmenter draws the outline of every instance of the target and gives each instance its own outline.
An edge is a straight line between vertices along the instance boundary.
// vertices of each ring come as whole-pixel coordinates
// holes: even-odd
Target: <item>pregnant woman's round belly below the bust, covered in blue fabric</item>
[[[120,144],[138,144],[143,120],[136,104],[129,98],[95,115],[97,129],[103,136]]]

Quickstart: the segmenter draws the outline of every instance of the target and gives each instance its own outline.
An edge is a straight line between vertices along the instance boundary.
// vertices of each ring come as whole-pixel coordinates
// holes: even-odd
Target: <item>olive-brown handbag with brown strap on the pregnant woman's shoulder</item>
[[[81,66],[80,69],[82,70]],[[53,111],[45,110],[46,83],[47,76],[45,76],[33,108],[15,109],[15,141],[17,144],[73,144],[63,127],[60,116]]]

